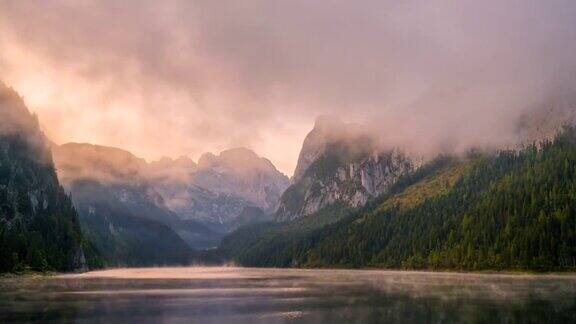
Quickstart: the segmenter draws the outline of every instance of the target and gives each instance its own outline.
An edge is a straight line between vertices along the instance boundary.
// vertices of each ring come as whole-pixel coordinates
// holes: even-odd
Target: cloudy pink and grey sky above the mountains
[[[0,0],[0,79],[57,143],[246,146],[290,175],[320,114],[419,148],[510,140],[572,83],[574,17],[571,0]]]

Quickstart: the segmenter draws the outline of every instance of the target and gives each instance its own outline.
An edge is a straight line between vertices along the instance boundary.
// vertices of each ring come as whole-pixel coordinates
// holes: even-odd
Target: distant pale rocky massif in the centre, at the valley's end
[[[186,168],[176,161],[167,162],[150,176],[167,206],[183,219],[197,220],[222,232],[235,229],[241,215],[243,222],[248,221],[249,214],[243,214],[246,208],[257,207],[272,214],[289,185],[288,178],[269,160],[245,148],[218,156],[206,153],[197,166],[188,163]]]

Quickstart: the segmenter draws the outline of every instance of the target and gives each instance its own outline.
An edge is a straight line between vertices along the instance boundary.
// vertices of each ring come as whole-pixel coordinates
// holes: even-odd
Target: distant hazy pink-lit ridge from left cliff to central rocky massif
[[[259,207],[270,214],[288,185],[288,178],[269,160],[245,148],[225,150],[218,156],[207,153],[198,164],[187,157],[146,162],[123,149],[86,143],[57,146],[54,156],[67,187],[75,180],[95,179],[111,189],[122,184],[141,188],[140,196],[161,209],[217,232],[240,224],[234,219],[245,208]],[[256,215],[255,220],[261,219]]]

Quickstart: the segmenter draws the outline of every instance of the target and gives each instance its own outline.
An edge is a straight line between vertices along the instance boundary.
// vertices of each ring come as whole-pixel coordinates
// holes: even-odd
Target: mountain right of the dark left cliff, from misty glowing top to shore
[[[218,234],[166,207],[147,181],[145,160],[91,144],[55,146],[53,153],[82,227],[109,265],[186,264],[192,248],[218,243]]]

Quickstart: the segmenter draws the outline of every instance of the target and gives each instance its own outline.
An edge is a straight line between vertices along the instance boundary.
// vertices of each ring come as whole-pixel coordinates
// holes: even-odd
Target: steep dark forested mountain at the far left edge
[[[0,272],[74,271],[99,263],[58,182],[38,119],[0,83]]]

